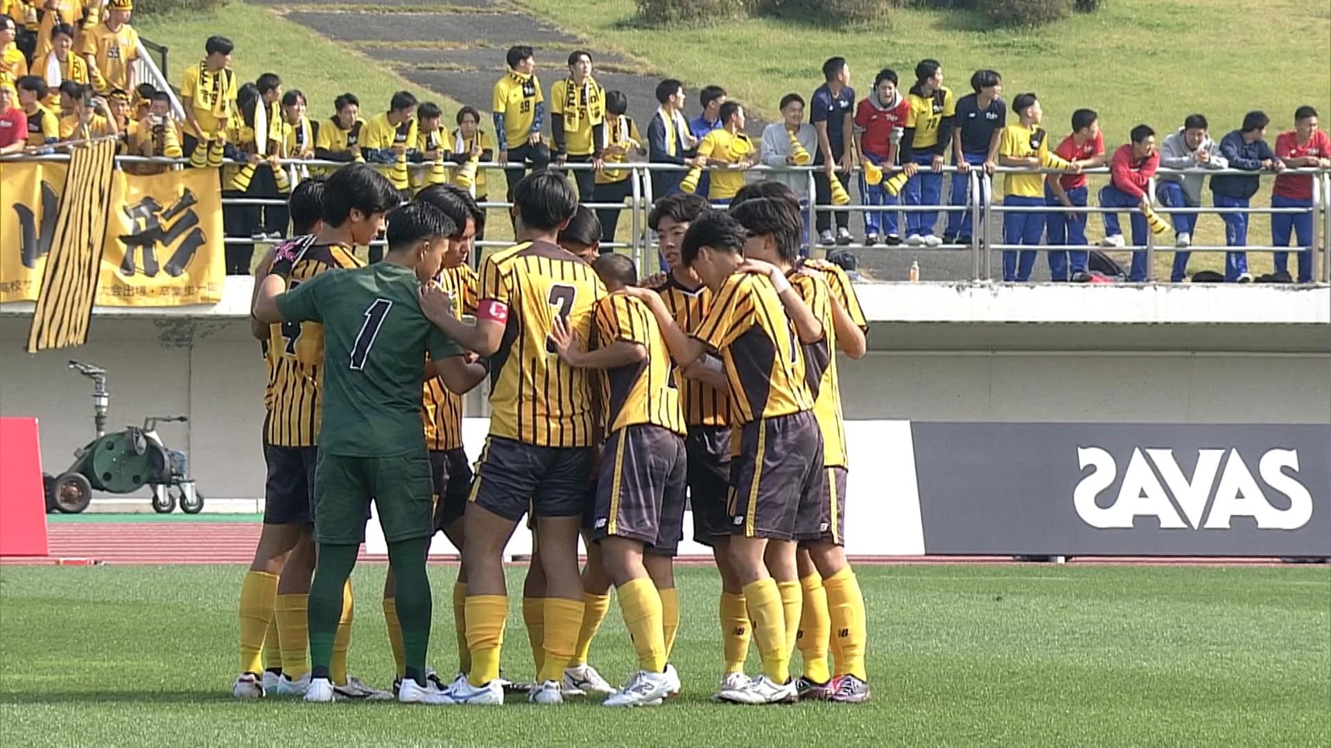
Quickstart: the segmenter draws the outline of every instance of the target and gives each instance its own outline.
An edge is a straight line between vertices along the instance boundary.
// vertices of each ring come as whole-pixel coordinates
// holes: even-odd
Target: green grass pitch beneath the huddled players
[[[869,704],[712,704],[713,571],[680,574],[677,701],[615,711],[230,697],[242,567],[0,568],[0,744],[23,745],[1258,745],[1331,744],[1331,570],[880,566]],[[383,566],[357,570],[351,671],[391,656]],[[431,567],[431,664],[455,667],[454,570]],[[520,570],[510,590],[520,590]],[[504,669],[530,677],[514,599]],[[607,679],[632,650],[611,607]],[[751,654],[751,671],[756,655]]]

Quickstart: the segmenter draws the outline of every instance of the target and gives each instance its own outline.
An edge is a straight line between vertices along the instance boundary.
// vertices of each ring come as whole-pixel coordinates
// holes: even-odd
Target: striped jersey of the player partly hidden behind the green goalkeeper
[[[342,245],[310,244],[313,237],[299,237],[277,248],[273,273],[286,278],[291,290],[302,282],[337,268],[359,268],[362,262]],[[268,443],[280,447],[313,447],[318,442],[322,421],[319,397],[323,369],[323,325],[317,322],[282,322],[269,327],[269,374],[272,402]]]

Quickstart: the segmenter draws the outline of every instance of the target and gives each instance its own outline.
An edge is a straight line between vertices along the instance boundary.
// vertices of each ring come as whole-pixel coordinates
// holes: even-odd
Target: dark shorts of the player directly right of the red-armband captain
[[[684,441],[667,429],[644,423],[614,431],[596,479],[592,539],[628,538],[673,556],[684,538]]]

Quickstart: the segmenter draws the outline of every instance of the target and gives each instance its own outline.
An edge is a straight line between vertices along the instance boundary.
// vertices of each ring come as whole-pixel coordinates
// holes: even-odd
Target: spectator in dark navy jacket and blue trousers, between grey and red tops
[[[1230,162],[1230,169],[1260,172],[1268,169],[1280,172],[1284,164],[1275,157],[1266,144],[1266,125],[1271,118],[1264,112],[1248,112],[1243,116],[1243,128],[1221,138],[1221,156]],[[1211,198],[1217,208],[1248,208],[1248,201],[1262,186],[1262,180],[1254,174],[1215,174],[1211,177]],[[1222,213],[1225,220],[1225,245],[1247,246],[1247,213]],[[1227,282],[1251,283],[1247,272],[1247,252],[1225,253],[1225,280]]]

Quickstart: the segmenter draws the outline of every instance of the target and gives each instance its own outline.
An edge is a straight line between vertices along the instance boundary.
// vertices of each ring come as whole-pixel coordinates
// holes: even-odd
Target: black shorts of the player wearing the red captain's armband
[[[538,447],[490,437],[469,500],[504,519],[582,516],[587,506],[591,447]]]

